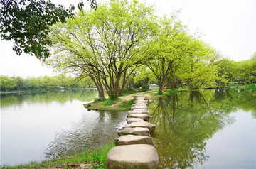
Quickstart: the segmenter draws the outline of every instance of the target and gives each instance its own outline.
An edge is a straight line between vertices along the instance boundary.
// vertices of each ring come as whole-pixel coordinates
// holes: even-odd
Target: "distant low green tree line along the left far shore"
[[[23,90],[50,90],[93,87],[93,82],[85,78],[78,80],[75,77],[58,75],[54,77],[8,77],[0,76],[1,91],[23,91]]]

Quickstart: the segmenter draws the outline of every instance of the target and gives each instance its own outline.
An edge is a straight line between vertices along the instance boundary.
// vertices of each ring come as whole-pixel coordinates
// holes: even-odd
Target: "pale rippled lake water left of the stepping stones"
[[[87,111],[97,92],[1,96],[1,165],[28,163],[114,140],[127,112]]]

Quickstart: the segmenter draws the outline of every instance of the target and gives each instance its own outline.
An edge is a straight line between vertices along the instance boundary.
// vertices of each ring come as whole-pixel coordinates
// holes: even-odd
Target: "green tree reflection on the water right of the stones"
[[[206,90],[160,97],[149,104],[159,168],[194,168],[207,160],[206,141],[232,124],[237,109],[255,116],[256,94],[250,90]]]

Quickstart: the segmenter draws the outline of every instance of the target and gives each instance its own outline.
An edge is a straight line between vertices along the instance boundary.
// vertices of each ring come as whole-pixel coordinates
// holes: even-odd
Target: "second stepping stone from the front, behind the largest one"
[[[154,142],[149,136],[134,136],[134,135],[125,135],[120,136],[116,146],[122,145],[132,145],[132,144],[149,144],[154,146]]]

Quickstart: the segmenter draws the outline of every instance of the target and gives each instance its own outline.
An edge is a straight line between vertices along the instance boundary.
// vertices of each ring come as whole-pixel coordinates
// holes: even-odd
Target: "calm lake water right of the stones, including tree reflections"
[[[182,92],[149,105],[159,168],[256,168],[256,91]]]

